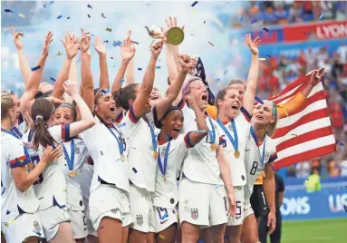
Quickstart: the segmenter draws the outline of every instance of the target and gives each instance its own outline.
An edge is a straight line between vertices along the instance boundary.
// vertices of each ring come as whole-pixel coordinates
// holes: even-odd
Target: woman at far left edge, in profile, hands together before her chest
[[[11,129],[18,118],[18,107],[7,92],[1,93],[1,229],[7,242],[37,242],[44,238],[37,213],[39,200],[32,185],[45,167],[62,155],[62,147],[47,147],[42,160],[28,171],[30,157],[23,142]]]

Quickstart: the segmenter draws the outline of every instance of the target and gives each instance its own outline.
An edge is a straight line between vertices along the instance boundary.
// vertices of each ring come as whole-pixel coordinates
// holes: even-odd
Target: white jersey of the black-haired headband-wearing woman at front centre
[[[168,146],[169,153],[165,177],[161,172],[160,167],[157,167],[156,190],[153,194],[154,206],[171,209],[174,208],[178,203],[177,178],[179,176],[179,170],[181,168],[183,159],[189,148],[187,142],[188,135],[189,133],[186,135],[181,134],[176,140],[171,140],[164,144],[159,144],[159,158],[161,161],[162,169],[164,169],[164,159]]]

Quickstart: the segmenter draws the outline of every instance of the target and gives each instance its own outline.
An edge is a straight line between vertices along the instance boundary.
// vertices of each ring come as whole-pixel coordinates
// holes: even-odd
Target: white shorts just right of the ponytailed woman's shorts
[[[89,234],[85,210],[75,211],[72,209],[67,210],[71,218],[73,238],[86,238]]]

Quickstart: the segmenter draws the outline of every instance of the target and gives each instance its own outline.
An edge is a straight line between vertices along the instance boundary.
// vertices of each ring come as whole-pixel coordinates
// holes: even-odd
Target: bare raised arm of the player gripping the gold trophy
[[[153,43],[150,46],[150,52],[152,53],[149,59],[149,66],[146,73],[143,76],[140,92],[136,97],[135,102],[132,105],[135,117],[139,118],[145,110],[146,103],[149,101],[150,92],[153,89],[154,76],[156,63],[159,57],[159,53],[163,47],[163,41]]]

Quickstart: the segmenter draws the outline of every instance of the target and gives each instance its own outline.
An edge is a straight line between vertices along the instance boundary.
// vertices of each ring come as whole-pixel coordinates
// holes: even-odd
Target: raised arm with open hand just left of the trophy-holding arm
[[[123,44],[120,46],[120,69],[118,70],[116,77],[114,78],[112,84],[112,92],[118,91],[121,88],[121,80],[123,80],[127,66],[135,54],[135,44],[130,41],[130,34],[131,32],[129,31],[127,39],[125,39]]]

